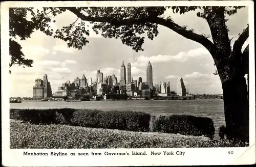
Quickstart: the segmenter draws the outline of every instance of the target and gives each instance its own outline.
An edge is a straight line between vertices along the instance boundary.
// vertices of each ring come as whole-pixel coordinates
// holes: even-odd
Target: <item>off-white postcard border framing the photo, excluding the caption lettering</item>
[[[147,156],[23,156],[22,149],[9,149],[9,7],[68,6],[248,6],[249,7],[249,148],[177,148],[177,149],[33,149],[36,152],[126,152],[146,151]],[[255,73],[254,73],[253,1],[136,1],[136,2],[4,2],[1,3],[1,73],[2,73],[2,164],[5,166],[120,166],[120,165],[227,165],[255,163]],[[185,156],[151,156],[151,151],[183,151]],[[232,155],[228,151],[233,151]]]

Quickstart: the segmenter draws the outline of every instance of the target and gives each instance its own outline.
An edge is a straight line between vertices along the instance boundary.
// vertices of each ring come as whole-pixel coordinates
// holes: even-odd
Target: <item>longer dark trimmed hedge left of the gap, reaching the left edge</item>
[[[89,109],[11,109],[11,119],[33,124],[66,124],[72,126],[149,131],[150,114],[144,112]]]

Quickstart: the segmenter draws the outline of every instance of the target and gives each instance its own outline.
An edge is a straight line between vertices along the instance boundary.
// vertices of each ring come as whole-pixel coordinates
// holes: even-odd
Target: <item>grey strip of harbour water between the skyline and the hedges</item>
[[[101,110],[136,110],[151,115],[186,114],[193,116],[209,117],[214,121],[216,137],[218,128],[225,125],[223,99],[217,100],[126,100],[126,101],[24,101],[22,103],[10,103],[10,108],[87,108]]]

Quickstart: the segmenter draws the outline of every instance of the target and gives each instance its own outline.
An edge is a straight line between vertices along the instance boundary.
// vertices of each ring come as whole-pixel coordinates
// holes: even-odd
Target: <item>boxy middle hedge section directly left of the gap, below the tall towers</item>
[[[149,131],[150,114],[116,110],[77,110],[71,119],[73,125],[131,131]]]

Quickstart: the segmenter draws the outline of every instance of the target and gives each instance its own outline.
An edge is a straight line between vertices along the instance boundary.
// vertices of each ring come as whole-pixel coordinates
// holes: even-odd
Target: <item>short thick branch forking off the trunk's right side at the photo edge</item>
[[[249,25],[243,31],[243,33],[238,37],[236,42],[234,42],[233,52],[241,54],[242,53],[242,46],[243,46],[243,44],[245,43],[245,41],[247,40],[248,37],[249,37]]]

